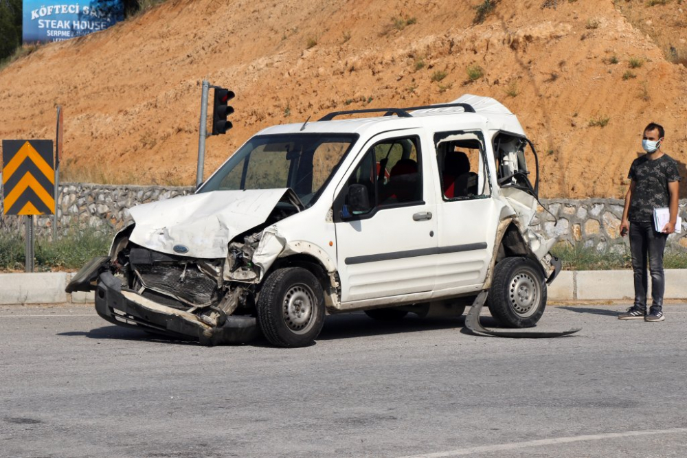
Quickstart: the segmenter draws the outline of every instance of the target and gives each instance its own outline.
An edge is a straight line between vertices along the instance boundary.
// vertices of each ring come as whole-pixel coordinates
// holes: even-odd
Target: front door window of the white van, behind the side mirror
[[[348,179],[348,185],[364,185],[370,208],[423,202],[419,139],[401,137],[374,144]]]

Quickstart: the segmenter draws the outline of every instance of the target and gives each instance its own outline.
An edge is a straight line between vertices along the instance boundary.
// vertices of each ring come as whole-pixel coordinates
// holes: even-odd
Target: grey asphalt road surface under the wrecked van
[[[685,457],[687,306],[550,307],[560,339],[328,317],[311,347],[200,347],[87,306],[0,308],[2,457]],[[489,325],[491,317],[484,317]]]

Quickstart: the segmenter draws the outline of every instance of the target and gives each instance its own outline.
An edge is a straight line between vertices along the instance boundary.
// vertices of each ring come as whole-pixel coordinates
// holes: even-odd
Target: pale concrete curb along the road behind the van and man
[[[0,273],[0,305],[93,304],[90,293],[65,293],[72,273]],[[687,299],[687,270],[666,269],[665,299]],[[651,282],[649,282],[651,289]],[[563,271],[548,287],[550,301],[632,301],[632,271]]]

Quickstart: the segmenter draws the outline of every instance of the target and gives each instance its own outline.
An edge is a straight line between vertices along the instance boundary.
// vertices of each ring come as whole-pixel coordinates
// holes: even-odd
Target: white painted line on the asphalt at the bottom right
[[[515,450],[516,448],[539,447],[545,445],[570,444],[571,442],[599,441],[604,439],[616,439],[618,437],[633,437],[655,434],[678,434],[687,433],[687,428],[657,429],[653,431],[626,431],[624,433],[605,433],[573,437],[554,437],[552,439],[539,439],[528,442],[513,442],[511,444],[486,445],[479,447],[458,448],[449,452],[426,453],[424,455],[412,455],[401,458],[449,458],[462,455],[473,455],[474,453],[491,453],[503,450]]]

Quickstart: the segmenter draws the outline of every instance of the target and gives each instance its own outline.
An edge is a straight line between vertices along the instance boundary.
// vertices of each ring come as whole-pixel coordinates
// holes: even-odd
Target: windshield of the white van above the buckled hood
[[[309,207],[357,140],[351,134],[258,135],[198,192],[290,187]]]

